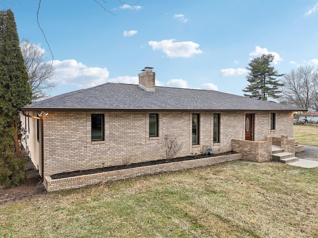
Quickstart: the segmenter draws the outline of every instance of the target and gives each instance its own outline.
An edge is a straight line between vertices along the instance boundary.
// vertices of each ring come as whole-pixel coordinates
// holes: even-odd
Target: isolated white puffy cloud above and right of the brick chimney
[[[174,39],[162,41],[149,41],[148,44],[154,51],[162,50],[169,58],[192,57],[194,54],[201,54],[202,51],[197,49],[200,45],[192,41],[174,42]]]

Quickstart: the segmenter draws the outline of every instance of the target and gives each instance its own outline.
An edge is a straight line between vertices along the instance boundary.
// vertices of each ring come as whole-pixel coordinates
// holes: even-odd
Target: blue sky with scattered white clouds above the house
[[[102,7],[96,2],[98,1]],[[106,82],[138,84],[154,67],[156,85],[242,95],[246,66],[262,54],[289,73],[318,66],[318,0],[42,0],[39,22],[54,55],[51,96]],[[45,50],[38,0],[11,8],[20,41]],[[111,13],[105,11],[105,9]]]

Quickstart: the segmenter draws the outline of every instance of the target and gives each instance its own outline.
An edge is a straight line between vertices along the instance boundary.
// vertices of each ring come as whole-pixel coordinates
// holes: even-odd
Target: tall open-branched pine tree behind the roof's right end
[[[270,66],[270,63],[274,60],[274,56],[271,54],[263,54],[261,57],[257,57],[250,61],[249,67],[246,67],[249,72],[246,76],[246,80],[249,85],[242,91],[245,92],[245,97],[257,98],[267,101],[268,98],[279,98],[280,87],[283,86],[279,83],[276,77],[283,76],[278,71]]]

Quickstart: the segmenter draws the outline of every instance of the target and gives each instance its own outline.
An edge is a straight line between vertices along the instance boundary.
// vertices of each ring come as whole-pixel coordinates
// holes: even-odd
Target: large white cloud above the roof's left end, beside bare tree
[[[76,60],[54,60],[52,81],[61,84],[78,85],[79,88],[93,87],[107,81],[107,68],[87,67]]]

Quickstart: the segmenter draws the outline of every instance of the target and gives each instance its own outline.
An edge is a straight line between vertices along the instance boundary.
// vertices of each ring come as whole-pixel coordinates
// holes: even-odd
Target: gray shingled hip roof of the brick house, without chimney
[[[156,87],[156,92],[147,92],[135,84],[105,83],[36,102],[21,110],[296,111],[301,109],[212,90]]]

